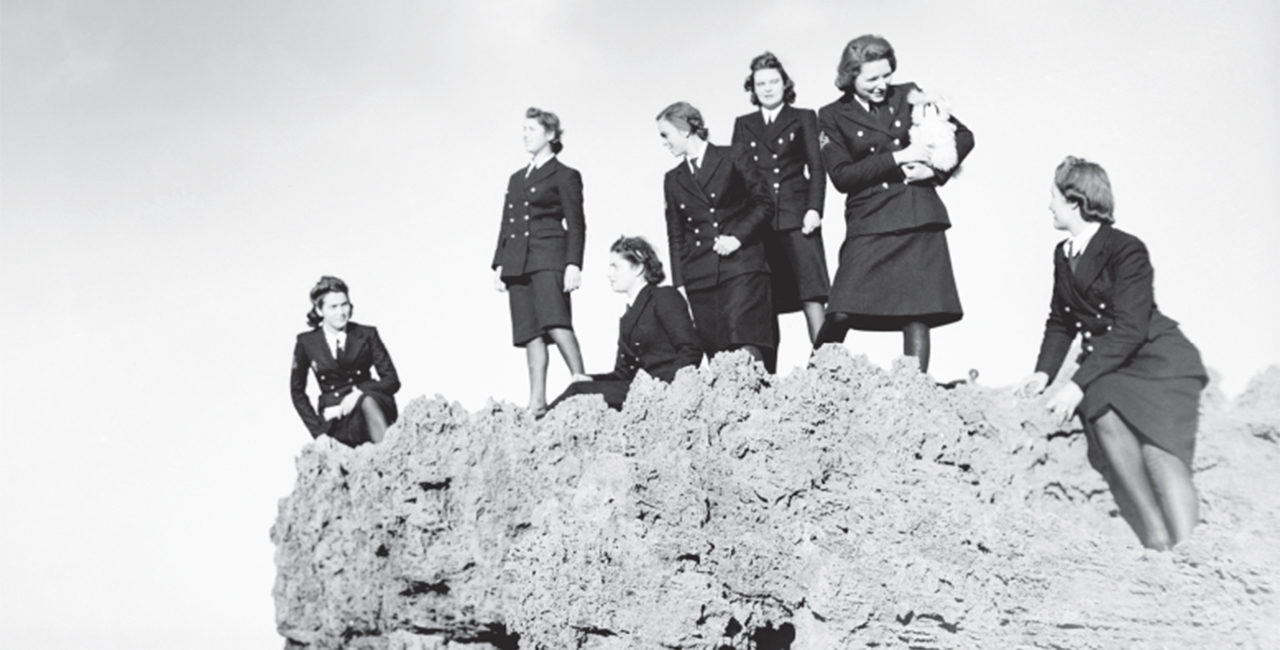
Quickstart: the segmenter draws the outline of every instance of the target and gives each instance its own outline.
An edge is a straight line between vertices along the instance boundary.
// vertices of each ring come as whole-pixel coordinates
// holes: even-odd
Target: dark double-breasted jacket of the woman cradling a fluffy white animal
[[[906,95],[914,83],[890,86],[879,115],[872,115],[854,97],[841,99],[818,111],[823,133],[822,161],[831,182],[846,194],[846,237],[895,233],[916,228],[950,228],[947,209],[934,189],[951,174],[908,184],[893,162],[893,152],[910,145],[911,105]],[[964,161],[973,150],[973,133],[959,120],[956,155]]]

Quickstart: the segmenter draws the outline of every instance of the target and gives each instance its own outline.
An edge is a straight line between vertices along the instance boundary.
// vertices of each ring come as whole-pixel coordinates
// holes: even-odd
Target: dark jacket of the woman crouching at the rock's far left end
[[[370,369],[378,369],[378,379],[374,379]],[[320,384],[316,408],[307,402],[307,370],[315,374]],[[376,328],[348,322],[342,358],[337,360],[333,358],[321,328],[298,334],[293,347],[289,392],[293,394],[293,408],[312,438],[329,432],[334,421],[324,420],[324,409],[338,406],[353,388],[360,388],[366,394],[378,393],[380,404],[389,403],[394,408],[396,402],[390,395],[399,390],[399,377]],[[388,421],[394,418],[393,412]]]

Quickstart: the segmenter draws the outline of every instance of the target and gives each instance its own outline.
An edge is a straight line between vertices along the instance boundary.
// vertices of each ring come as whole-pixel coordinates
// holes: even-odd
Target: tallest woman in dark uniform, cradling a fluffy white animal
[[[929,329],[963,316],[947,250],[951,221],[936,189],[950,174],[925,165],[928,147],[910,142],[915,84],[890,84],[896,68],[888,41],[854,38],[836,77],[845,95],[818,111],[822,161],[846,194],[847,229],[815,345],[841,342],[849,329],[902,331],[902,353],[928,371]],[[951,123],[963,161],[973,133]]]

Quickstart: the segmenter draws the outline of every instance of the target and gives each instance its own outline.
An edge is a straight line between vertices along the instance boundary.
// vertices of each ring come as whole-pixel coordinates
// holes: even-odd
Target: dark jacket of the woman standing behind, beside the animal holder
[[[774,230],[800,229],[809,210],[822,215],[827,177],[818,151],[817,113],[785,105],[768,125],[758,110],[740,115],[733,122],[733,150],[746,156],[773,189]]]

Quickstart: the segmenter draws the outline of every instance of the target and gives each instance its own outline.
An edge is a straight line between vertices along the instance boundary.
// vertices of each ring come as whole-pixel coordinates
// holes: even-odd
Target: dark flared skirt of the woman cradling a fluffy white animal
[[[867,234],[845,239],[831,285],[828,313],[845,313],[852,329],[931,328],[964,316],[951,271],[947,234],[940,229]]]

